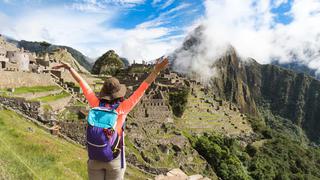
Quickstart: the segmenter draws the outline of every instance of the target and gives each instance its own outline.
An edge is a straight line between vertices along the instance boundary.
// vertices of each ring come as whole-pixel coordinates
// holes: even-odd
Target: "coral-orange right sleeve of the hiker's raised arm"
[[[142,82],[138,89],[125,101],[121,103],[121,109],[124,114],[128,114],[134,106],[140,101],[141,97],[145,94],[149,84]]]

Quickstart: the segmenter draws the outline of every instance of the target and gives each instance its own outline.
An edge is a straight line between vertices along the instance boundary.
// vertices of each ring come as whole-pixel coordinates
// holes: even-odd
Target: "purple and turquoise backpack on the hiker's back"
[[[119,104],[92,108],[88,114],[87,147],[91,160],[110,162],[121,153],[121,167],[123,168],[123,134],[116,131]]]

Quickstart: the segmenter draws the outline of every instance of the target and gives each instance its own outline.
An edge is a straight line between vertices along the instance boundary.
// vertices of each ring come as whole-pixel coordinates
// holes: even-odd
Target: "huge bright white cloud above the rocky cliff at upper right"
[[[260,63],[296,59],[320,72],[320,1],[293,1],[291,10],[286,13],[293,21],[279,24],[272,8],[287,2],[206,0],[206,15],[202,21],[206,29],[198,49],[205,54],[198,58],[201,61],[198,64],[212,63],[231,44],[242,57],[252,57]]]

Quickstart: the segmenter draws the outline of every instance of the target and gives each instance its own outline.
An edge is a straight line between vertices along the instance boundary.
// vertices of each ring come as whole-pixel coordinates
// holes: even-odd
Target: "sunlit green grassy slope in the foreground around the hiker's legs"
[[[0,110],[0,179],[87,179],[87,152],[14,112]],[[126,178],[147,179],[127,166]]]

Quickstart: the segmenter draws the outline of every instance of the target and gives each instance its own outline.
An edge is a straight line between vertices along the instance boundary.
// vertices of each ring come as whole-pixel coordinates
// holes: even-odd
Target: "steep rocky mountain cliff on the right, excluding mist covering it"
[[[196,53],[214,51],[203,48],[203,29],[197,28],[173,57],[187,52],[199,58]],[[209,61],[216,76],[208,84],[216,96],[237,104],[242,113],[256,117],[260,115],[259,109],[270,109],[274,115],[304,129],[310,140],[320,142],[320,81],[276,65],[243,59],[231,46],[222,57]]]

